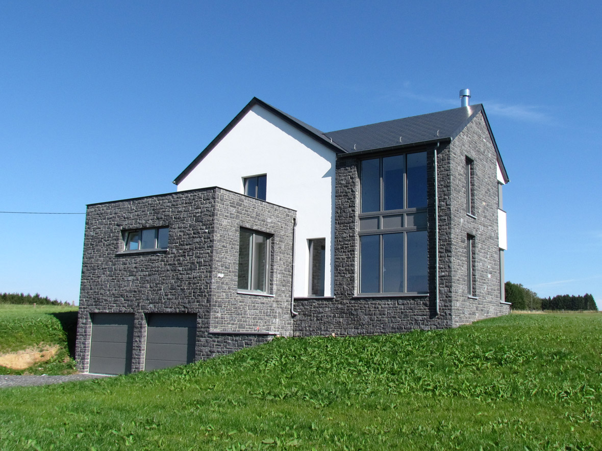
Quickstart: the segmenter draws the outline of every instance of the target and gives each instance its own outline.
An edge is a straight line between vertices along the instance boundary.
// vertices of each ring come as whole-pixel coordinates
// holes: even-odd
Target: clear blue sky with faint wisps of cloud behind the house
[[[506,280],[602,306],[600,23],[593,1],[5,1],[0,210],[175,191],[253,96],[330,131],[470,88],[511,180]],[[0,292],[78,299],[84,222],[0,213]]]

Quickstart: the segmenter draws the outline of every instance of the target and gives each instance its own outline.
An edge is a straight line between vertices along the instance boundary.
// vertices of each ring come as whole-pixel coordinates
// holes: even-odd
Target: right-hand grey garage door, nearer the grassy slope
[[[144,369],[192,363],[195,342],[196,314],[149,314]]]

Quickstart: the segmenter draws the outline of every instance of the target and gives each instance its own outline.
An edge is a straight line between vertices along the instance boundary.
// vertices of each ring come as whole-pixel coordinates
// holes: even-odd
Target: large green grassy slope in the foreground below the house
[[[602,449],[602,315],[276,339],[210,361],[0,390],[0,449]]]

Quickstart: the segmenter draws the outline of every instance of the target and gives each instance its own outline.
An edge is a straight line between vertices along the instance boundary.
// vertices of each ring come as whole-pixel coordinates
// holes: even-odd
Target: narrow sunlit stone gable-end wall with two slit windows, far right
[[[473,161],[473,215],[466,212],[466,158]],[[485,118],[479,113],[445,151],[446,236],[452,278],[453,326],[509,313],[500,301],[497,218],[497,158]],[[474,295],[468,293],[467,235],[474,236]],[[449,257],[447,257],[449,259]]]

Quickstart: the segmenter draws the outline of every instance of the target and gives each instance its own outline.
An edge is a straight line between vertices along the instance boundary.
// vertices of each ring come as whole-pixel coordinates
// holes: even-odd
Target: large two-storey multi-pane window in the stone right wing
[[[426,152],[364,160],[359,292],[428,291]]]

